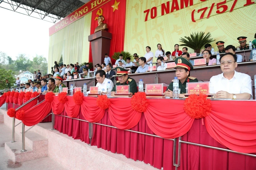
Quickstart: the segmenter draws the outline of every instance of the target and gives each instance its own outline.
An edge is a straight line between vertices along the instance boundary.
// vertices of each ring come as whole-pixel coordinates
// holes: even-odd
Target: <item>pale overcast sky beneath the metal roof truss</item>
[[[49,28],[53,23],[0,8],[0,51],[16,59],[19,54],[44,55],[48,60]]]

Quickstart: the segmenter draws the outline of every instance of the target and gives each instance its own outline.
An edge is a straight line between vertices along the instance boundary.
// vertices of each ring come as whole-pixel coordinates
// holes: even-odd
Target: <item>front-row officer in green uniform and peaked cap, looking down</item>
[[[128,77],[127,69],[124,69],[122,67],[116,67],[115,70],[116,70],[116,77],[118,78],[118,81],[116,81],[116,85],[130,85],[129,91],[130,91],[130,94],[132,95],[138,92],[136,81],[133,78]],[[115,96],[116,85],[114,86],[111,92],[111,96]]]

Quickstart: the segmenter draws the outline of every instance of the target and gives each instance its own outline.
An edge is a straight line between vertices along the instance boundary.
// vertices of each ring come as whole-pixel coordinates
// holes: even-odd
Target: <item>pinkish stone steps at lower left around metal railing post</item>
[[[17,142],[5,143],[5,152],[13,162],[26,162],[48,156],[48,139],[34,131],[25,134],[25,149],[27,152],[20,152],[22,149],[22,134]]]

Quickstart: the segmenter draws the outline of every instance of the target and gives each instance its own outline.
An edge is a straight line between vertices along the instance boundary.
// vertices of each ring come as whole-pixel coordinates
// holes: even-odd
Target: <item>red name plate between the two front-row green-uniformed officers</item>
[[[164,84],[146,84],[146,96],[147,97],[163,97]]]

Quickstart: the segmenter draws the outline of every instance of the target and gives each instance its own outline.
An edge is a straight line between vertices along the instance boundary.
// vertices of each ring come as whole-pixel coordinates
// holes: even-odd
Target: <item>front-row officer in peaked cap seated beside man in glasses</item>
[[[193,65],[184,57],[177,57],[175,59],[176,63],[176,77],[179,79],[179,97],[184,97],[186,94],[187,83],[198,82],[197,78],[190,76],[190,70],[193,70]],[[172,97],[173,82],[170,83],[166,92],[164,92],[165,97]]]

